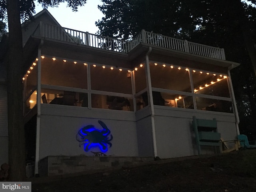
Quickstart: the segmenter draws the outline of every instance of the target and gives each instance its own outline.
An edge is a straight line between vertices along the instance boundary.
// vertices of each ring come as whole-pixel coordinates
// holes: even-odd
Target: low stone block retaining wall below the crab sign
[[[123,166],[132,166],[149,161],[154,161],[154,158],[47,156],[40,160],[38,168],[40,176],[56,176],[78,172],[113,170]]]

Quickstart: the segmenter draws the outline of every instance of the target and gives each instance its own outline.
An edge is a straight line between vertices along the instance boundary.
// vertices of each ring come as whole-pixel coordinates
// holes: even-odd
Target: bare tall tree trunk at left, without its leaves
[[[22,30],[19,0],[7,0],[9,43],[8,43],[8,134],[10,180],[24,181],[25,135],[22,95]]]

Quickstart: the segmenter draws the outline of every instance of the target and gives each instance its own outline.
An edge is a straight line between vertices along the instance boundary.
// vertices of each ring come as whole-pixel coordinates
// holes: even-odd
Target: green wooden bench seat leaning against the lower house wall
[[[201,154],[201,146],[216,146],[220,150],[220,133],[217,132],[217,120],[197,119],[193,116],[193,128],[198,146],[198,154]]]

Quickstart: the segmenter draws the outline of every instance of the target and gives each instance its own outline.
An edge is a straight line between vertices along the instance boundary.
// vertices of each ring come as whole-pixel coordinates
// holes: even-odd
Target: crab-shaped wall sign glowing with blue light
[[[98,121],[103,130],[99,130],[94,125],[88,125],[78,131],[76,134],[76,140],[78,140],[79,146],[84,145],[84,151],[88,152],[90,148],[98,147],[101,152],[106,152],[109,147],[112,146],[110,141],[113,136],[110,135],[110,130],[102,121]],[[109,138],[110,137],[110,138]]]

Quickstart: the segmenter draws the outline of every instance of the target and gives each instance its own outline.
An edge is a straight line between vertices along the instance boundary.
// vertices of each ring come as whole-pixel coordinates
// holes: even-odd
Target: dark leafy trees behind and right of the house
[[[225,49],[240,132],[256,139],[256,7],[241,0],[102,0],[99,34],[128,39],[142,29]],[[255,0],[250,0],[255,4]],[[254,72],[255,71],[255,72]],[[248,125],[247,122],[250,122]]]

